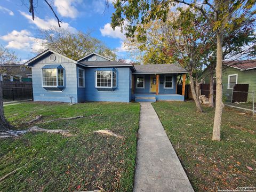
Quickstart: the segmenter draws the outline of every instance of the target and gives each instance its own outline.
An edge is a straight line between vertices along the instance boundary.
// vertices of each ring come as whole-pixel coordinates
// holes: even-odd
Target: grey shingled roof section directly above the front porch
[[[188,73],[188,71],[175,64],[147,64],[134,65],[134,74],[155,74],[155,73]]]

